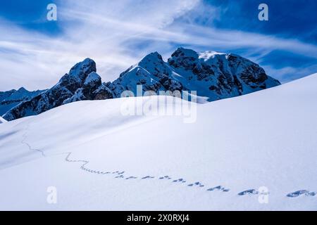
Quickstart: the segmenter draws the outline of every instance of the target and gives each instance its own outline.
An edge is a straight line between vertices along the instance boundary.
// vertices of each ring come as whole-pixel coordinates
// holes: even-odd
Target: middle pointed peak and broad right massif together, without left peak
[[[125,90],[136,94],[137,84],[142,84],[143,91],[197,91],[198,96],[215,101],[277,86],[280,82],[241,56],[179,48],[167,63],[159,53],[149,54],[108,87],[114,96],[120,97]]]

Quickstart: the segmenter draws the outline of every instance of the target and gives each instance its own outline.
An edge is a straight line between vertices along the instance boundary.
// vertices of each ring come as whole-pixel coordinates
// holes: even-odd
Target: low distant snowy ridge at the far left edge
[[[15,107],[23,101],[30,100],[31,98],[41,94],[44,90],[27,91],[21,87],[18,90],[0,91],[0,115],[4,115],[8,110]]]

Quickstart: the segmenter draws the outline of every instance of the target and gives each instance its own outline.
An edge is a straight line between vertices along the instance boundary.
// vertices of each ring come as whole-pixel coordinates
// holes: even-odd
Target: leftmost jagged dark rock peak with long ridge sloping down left
[[[93,100],[92,96],[94,95],[92,92],[101,85],[101,78],[95,72],[96,63],[94,63],[94,60],[86,58],[81,63],[73,66],[68,74],[60,79],[58,84],[42,94],[15,106],[15,108],[12,108],[4,115],[4,118],[6,120],[15,120],[20,117],[43,113],[63,103]],[[96,77],[97,80],[94,80]]]

